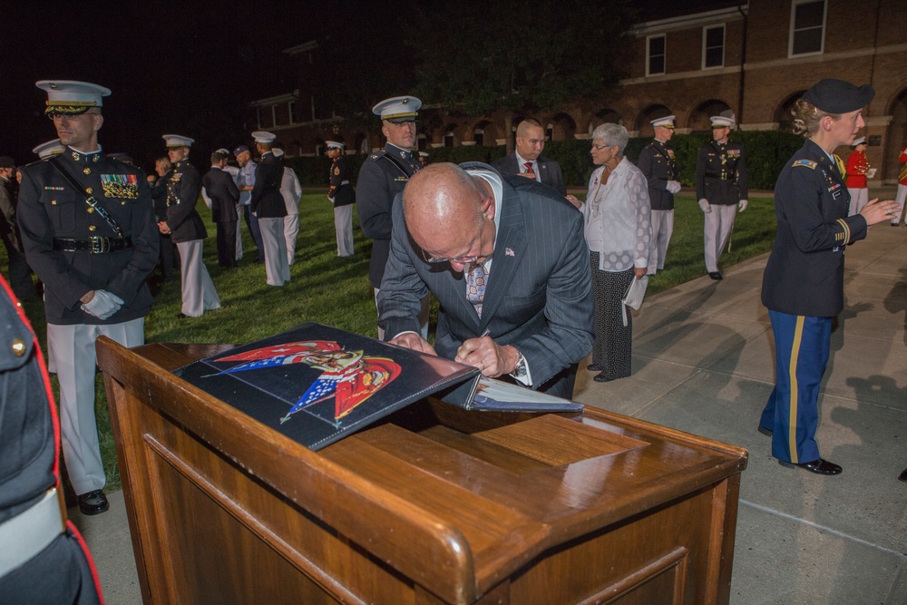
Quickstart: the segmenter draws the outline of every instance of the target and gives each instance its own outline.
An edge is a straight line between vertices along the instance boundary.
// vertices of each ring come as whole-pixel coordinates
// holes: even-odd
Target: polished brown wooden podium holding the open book
[[[145,603],[727,603],[746,450],[425,400],[316,452],[99,338]]]

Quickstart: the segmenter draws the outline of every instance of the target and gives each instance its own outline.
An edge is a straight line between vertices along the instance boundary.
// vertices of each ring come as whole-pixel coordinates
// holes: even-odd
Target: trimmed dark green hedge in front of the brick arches
[[[784,168],[785,162],[801,146],[803,137],[781,131],[735,131],[730,139],[746,148],[746,165],[749,169],[749,187],[754,190],[774,190],[775,179]],[[680,181],[685,187],[695,185],[696,158],[699,148],[711,140],[707,132],[675,134],[670,147],[677,157]],[[649,144],[649,138],[637,137],[629,140],[625,151],[629,161],[636,162],[639,151]],[[584,187],[595,167],[589,156],[590,141],[551,141],[545,145],[545,155],[561,164],[564,181],[571,187]],[[491,163],[505,154],[503,145],[482,147],[460,145],[439,147],[429,151],[432,161],[484,161]],[[354,180],[359,174],[365,155],[346,156],[353,169]],[[299,181],[306,186],[323,186],[327,189],[331,161],[327,157],[291,158],[286,162],[299,175]]]

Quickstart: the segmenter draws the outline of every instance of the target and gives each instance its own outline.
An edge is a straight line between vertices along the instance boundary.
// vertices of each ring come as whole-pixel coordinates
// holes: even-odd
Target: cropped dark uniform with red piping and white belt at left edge
[[[38,339],[0,278],[0,600],[100,603],[91,555],[60,506],[60,426]]]

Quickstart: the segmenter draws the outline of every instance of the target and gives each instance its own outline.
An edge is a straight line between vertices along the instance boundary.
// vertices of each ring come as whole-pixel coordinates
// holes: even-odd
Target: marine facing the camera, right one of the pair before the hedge
[[[721,279],[718,258],[734,230],[737,209],[746,210],[746,153],[743,145],[727,140],[733,117],[715,115],[711,121],[714,141],[699,148],[696,161],[696,197],[705,215],[706,271],[709,278]]]

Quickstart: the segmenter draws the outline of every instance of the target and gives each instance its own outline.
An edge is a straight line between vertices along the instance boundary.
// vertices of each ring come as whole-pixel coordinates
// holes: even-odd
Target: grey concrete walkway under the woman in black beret
[[[599,384],[580,369],[575,398],[746,447],[732,603],[907,603],[907,483],[897,481],[907,467],[907,229],[880,225],[847,250],[817,435],[823,457],[844,467],[837,477],[781,467],[756,432],[775,372],[759,302],[766,259],[648,298],[634,320],[633,376]],[[122,492],[110,512],[70,514],[107,602],[141,602]]]

